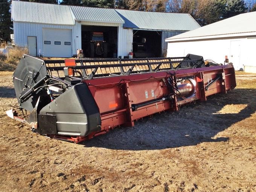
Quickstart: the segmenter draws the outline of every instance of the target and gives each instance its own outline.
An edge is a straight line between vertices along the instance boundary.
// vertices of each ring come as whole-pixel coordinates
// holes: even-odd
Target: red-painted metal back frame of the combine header
[[[158,101],[132,111],[132,104],[152,101],[164,98],[171,94],[166,86],[166,80],[172,76],[172,86],[179,78],[191,78],[195,80],[195,87],[185,82],[180,85],[183,97],[172,95],[171,100]],[[206,90],[206,86],[218,76],[218,79]],[[165,81],[163,81],[165,79]],[[134,121],[145,116],[162,111],[176,111],[181,105],[194,102],[195,100],[206,101],[207,96],[216,93],[226,93],[236,87],[235,71],[233,66],[213,66],[198,69],[182,69],[162,71],[155,73],[139,73],[128,76],[111,76],[104,78],[85,79],[101,114],[101,131],[91,133],[86,137],[67,137],[67,140],[80,142],[107,133],[117,126],[134,126]],[[195,93],[194,93],[195,90]],[[184,98],[190,94],[193,98]],[[54,136],[55,138],[59,136]],[[59,137],[59,139],[64,137]]]

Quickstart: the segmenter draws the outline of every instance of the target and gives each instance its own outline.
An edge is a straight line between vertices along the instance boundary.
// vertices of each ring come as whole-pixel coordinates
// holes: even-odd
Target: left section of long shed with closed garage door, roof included
[[[15,44],[27,46],[32,56],[71,57],[76,52],[69,6],[13,1],[12,21]]]

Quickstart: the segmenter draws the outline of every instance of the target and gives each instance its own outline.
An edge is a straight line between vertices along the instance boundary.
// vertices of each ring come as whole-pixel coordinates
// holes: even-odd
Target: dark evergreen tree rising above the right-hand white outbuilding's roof
[[[224,12],[224,18],[233,17],[241,13],[245,13],[247,7],[245,6],[244,0],[228,0]]]

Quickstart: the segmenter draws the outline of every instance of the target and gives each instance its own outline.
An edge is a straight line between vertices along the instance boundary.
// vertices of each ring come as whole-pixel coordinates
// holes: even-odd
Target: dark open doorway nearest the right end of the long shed
[[[133,30],[133,53],[135,58],[161,56],[160,31]]]

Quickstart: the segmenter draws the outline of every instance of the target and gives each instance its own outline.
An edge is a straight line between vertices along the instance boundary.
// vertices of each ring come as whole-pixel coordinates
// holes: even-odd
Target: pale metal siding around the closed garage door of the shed
[[[54,28],[54,29],[72,29],[72,54],[76,55],[76,49],[81,48],[81,24],[75,26],[64,26],[64,25],[50,25],[50,24],[39,24],[39,23],[24,23],[24,22],[13,22],[14,23],[14,41],[17,46],[27,46],[27,36],[37,37],[37,55],[43,54],[43,28]],[[78,38],[76,38],[78,36]],[[74,43],[75,39],[78,39],[78,43]]]

